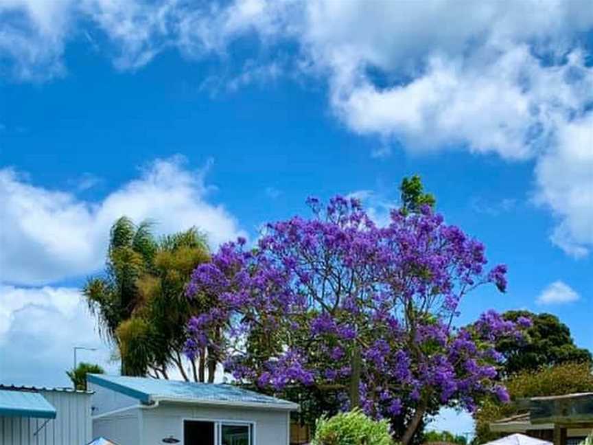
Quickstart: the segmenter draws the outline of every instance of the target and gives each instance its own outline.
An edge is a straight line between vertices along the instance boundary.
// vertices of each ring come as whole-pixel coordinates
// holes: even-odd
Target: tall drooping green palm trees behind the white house
[[[115,221],[106,271],[82,293],[100,332],[117,347],[122,374],[166,378],[176,365],[189,380],[181,358],[185,326],[207,301],[189,301],[184,292],[191,272],[209,260],[207,243],[195,228],[160,240],[151,229],[148,221]]]

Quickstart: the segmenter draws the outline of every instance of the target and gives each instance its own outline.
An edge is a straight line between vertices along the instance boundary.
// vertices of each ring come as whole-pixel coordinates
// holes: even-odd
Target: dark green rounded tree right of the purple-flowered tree
[[[504,374],[507,376],[561,363],[592,363],[591,353],[574,345],[570,329],[555,315],[511,310],[503,317],[512,321],[528,317],[533,322],[527,330],[526,341],[505,339],[496,345],[496,350],[504,355]]]

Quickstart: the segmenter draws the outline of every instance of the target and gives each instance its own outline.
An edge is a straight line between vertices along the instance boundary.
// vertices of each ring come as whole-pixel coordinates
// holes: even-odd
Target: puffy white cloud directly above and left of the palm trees
[[[101,269],[109,228],[122,215],[152,219],[159,233],[195,225],[213,245],[244,234],[222,205],[207,201],[204,174],[185,170],[181,159],[158,160],[93,203],[0,170],[0,282],[44,284]]]

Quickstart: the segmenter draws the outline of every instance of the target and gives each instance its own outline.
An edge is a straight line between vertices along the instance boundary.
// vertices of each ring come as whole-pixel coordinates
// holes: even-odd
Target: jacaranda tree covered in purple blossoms
[[[229,242],[194,271],[187,295],[216,304],[189,322],[190,358],[216,348],[241,383],[338,391],[343,409],[401,426],[404,445],[439,407],[508,398],[493,344],[528,320],[453,323],[478,286],[504,292],[504,265],[486,269],[484,246],[428,205],[379,227],[356,199],[308,203],[312,218],[270,223],[255,249]]]

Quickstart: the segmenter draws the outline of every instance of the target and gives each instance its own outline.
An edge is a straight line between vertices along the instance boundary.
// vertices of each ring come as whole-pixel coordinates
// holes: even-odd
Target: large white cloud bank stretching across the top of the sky
[[[230,90],[296,70],[325,82],[334,115],[384,148],[535,160],[536,201],[558,220],[551,240],[574,256],[592,246],[593,67],[579,45],[593,30],[589,0],[0,0],[1,10],[25,18],[7,22],[0,53],[27,75],[44,64],[49,76],[62,72],[65,41],[82,23],[120,69],[167,48],[229,58],[233,41],[256,36],[264,51]],[[287,42],[291,60],[257,59]],[[555,169],[577,174],[568,183]]]

